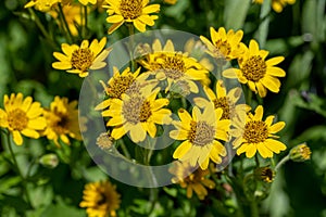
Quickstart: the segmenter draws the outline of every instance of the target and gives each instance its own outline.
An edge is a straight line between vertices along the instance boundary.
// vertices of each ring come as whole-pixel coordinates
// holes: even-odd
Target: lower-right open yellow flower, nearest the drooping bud
[[[246,119],[243,116],[239,116],[239,120],[233,122],[236,128],[230,130],[230,133],[236,138],[233,145],[234,149],[237,149],[237,154],[246,152],[246,156],[251,158],[258,151],[262,157],[267,158],[273,157],[273,153],[279,154],[280,151],[286,150],[287,146],[275,140],[278,137],[274,135],[285,127],[285,123],[278,122],[272,125],[275,117],[273,115],[263,122],[264,108],[262,105],[259,105],[254,113],[254,115],[249,113]]]

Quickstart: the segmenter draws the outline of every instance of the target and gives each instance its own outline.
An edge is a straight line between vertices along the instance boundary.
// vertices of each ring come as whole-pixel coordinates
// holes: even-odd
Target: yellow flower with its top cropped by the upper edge
[[[112,34],[125,22],[133,25],[141,33],[146,31],[146,25],[153,26],[158,15],[149,15],[160,11],[160,4],[148,5],[149,0],[106,0],[109,17],[108,23],[113,25],[109,28],[109,34]]]

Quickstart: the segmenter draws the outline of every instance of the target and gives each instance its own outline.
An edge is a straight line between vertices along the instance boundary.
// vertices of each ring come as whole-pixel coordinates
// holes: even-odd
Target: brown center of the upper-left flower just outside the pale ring
[[[80,48],[73,52],[72,54],[72,66],[82,72],[86,72],[92,64],[93,53],[88,48]]]

